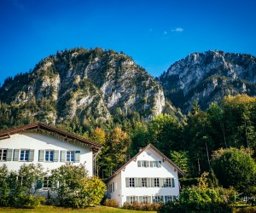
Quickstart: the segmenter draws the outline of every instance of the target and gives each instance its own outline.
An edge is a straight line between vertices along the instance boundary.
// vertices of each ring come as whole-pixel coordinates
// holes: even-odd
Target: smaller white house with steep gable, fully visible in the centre
[[[106,181],[108,198],[125,202],[166,203],[179,195],[181,169],[152,144],[148,144]]]

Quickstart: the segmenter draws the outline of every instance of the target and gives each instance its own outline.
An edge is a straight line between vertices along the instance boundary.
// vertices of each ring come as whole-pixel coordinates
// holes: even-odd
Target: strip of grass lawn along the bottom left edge
[[[142,210],[122,210],[118,208],[112,208],[108,206],[96,206],[96,207],[90,207],[86,208],[84,210],[72,210],[68,208],[60,208],[55,207],[52,205],[41,205],[37,207],[36,209],[15,209],[15,208],[0,208],[0,212],[45,212],[45,213],[58,213],[58,212],[93,212],[93,213],[103,213],[103,212],[113,212],[113,213],[156,213],[156,211],[142,211]]]

